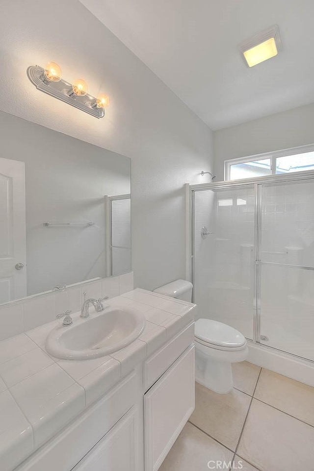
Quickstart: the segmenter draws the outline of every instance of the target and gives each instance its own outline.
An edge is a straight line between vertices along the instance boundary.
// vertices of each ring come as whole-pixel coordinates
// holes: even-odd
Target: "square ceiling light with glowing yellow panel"
[[[256,34],[240,44],[240,51],[248,67],[260,64],[275,57],[282,51],[279,28],[277,25]]]

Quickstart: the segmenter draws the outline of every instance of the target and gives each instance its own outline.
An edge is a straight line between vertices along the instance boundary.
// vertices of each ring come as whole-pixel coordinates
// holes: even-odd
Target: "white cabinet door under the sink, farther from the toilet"
[[[72,471],[136,471],[135,413],[132,408]]]

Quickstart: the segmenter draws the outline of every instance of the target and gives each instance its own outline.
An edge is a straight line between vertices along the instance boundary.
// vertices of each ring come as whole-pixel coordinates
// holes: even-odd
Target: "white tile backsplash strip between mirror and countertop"
[[[105,296],[114,298],[132,289],[133,272],[129,272],[117,277],[87,281],[61,291],[44,293],[0,306],[0,341],[52,322],[57,314],[68,309],[77,312],[84,300],[84,292],[86,299],[98,299]]]

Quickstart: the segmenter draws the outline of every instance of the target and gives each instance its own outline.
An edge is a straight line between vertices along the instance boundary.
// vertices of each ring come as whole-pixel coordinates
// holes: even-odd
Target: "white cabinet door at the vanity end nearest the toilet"
[[[194,410],[194,345],[144,396],[145,471],[157,471]]]

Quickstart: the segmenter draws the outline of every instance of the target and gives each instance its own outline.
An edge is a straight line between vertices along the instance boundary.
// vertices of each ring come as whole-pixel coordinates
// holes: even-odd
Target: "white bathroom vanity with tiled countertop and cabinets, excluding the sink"
[[[92,360],[51,357],[45,341],[56,322],[0,343],[0,354],[12,357],[16,344],[19,358],[47,361],[33,372],[17,360],[26,379],[6,383],[0,408],[14,424],[0,444],[1,471],[159,468],[194,409],[196,306],[141,289],[107,302],[138,310],[146,320],[141,335],[118,352]]]

